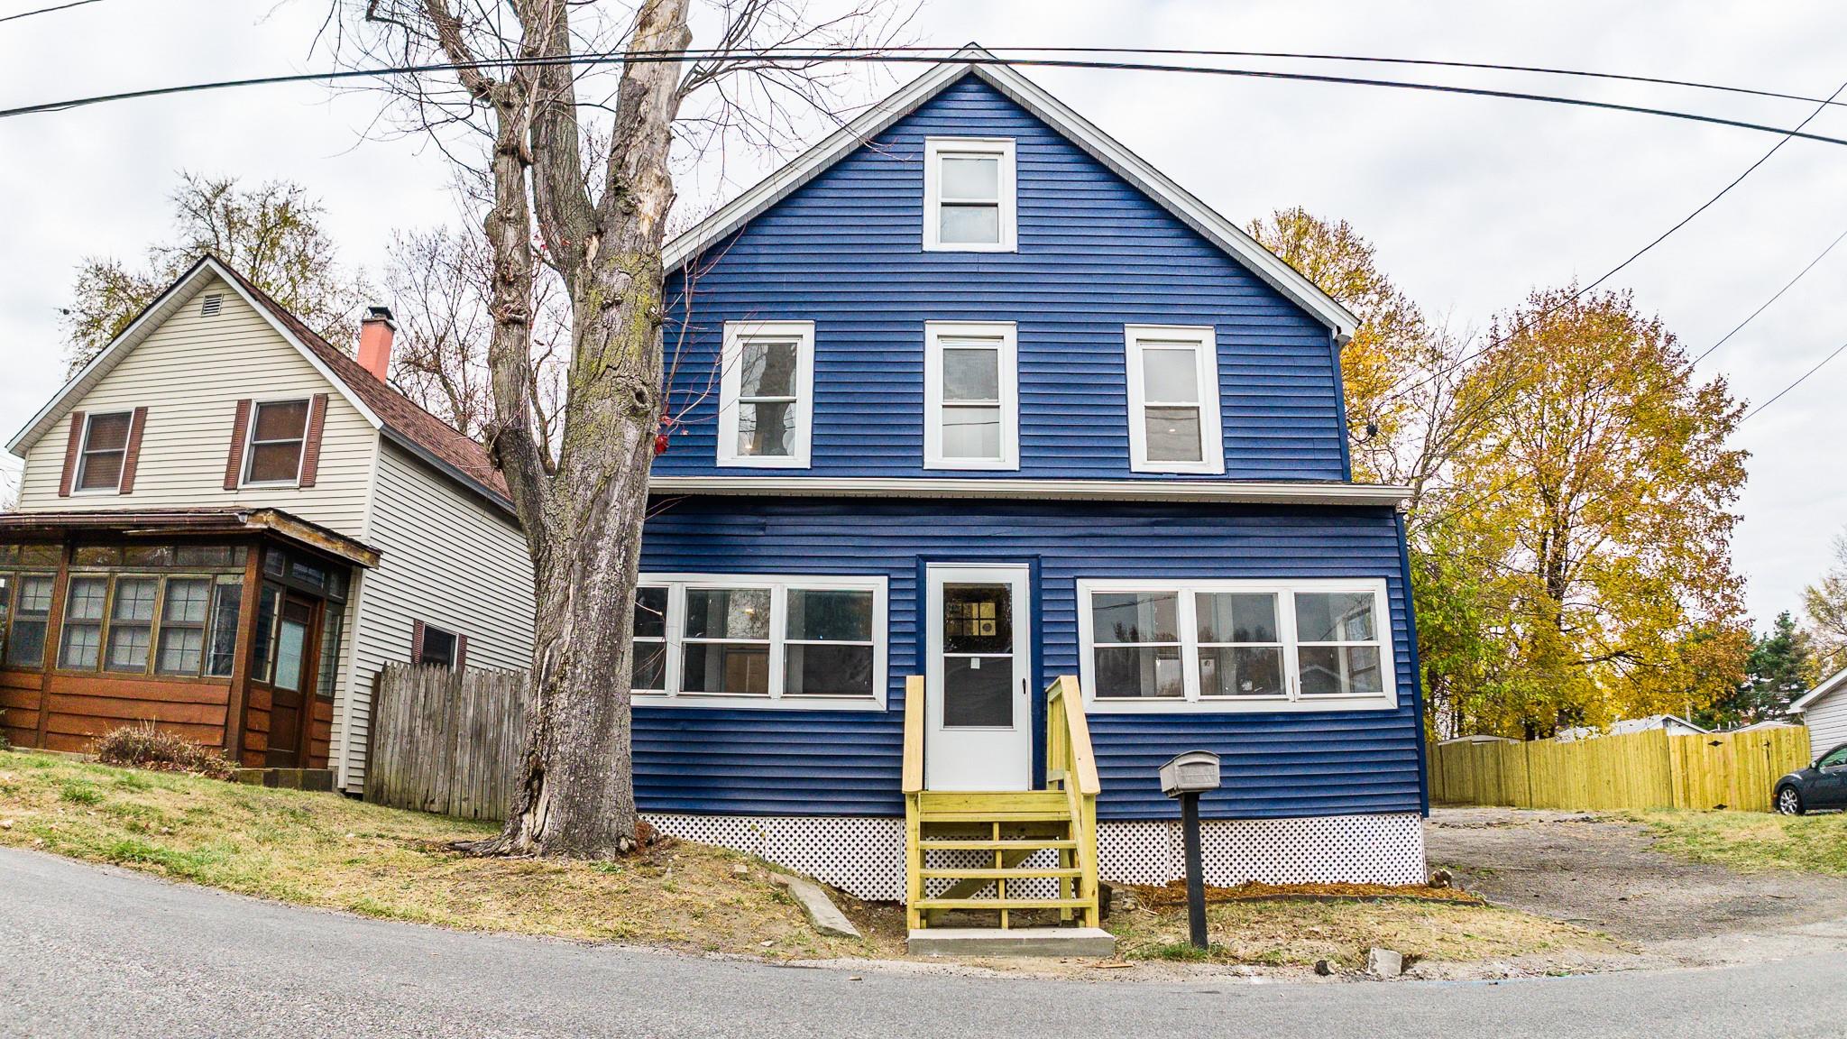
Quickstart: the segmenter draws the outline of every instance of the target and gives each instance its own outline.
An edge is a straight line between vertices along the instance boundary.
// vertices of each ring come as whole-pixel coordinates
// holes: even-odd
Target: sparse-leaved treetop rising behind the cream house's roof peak
[[[109,346],[201,253],[212,253],[336,344],[358,331],[364,277],[347,272],[321,226],[325,209],[294,181],[246,187],[238,177],[179,174],[172,233],[140,264],[89,257],[65,309],[76,372]]]

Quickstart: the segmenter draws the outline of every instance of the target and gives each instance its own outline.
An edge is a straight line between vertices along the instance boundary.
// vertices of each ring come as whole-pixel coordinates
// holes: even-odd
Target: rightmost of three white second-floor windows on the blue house
[[[1217,335],[1210,327],[1125,325],[1129,468],[1223,473]]]

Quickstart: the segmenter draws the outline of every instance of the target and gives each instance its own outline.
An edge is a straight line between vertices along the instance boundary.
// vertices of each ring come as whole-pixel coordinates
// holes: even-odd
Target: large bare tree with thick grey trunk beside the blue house
[[[694,137],[739,128],[778,144],[791,104],[826,107],[829,74],[767,57],[763,46],[879,43],[903,22],[861,9],[815,20],[791,0],[715,0],[706,13],[718,50],[689,55],[689,2],[336,7],[353,59],[453,63],[449,76],[397,81],[397,111],[486,185],[493,418],[484,433],[525,527],[536,630],[526,751],[506,828],[482,852],[608,858],[634,847],[630,617],[665,410],[661,246],[676,120],[711,87],[717,100],[689,109]],[[768,102],[733,104],[750,96]],[[571,325],[550,436],[530,372],[539,264],[558,274]]]

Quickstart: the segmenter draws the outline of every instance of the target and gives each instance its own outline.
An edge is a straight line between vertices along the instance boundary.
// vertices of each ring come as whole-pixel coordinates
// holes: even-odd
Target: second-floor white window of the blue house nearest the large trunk
[[[726,322],[718,464],[803,470],[815,416],[815,322]]]

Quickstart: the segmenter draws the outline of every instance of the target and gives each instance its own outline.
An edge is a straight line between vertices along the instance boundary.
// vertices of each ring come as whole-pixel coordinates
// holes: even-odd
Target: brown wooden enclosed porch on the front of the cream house
[[[377,562],[273,508],[0,516],[0,730],[85,752],[151,723],[323,769],[353,577]]]

